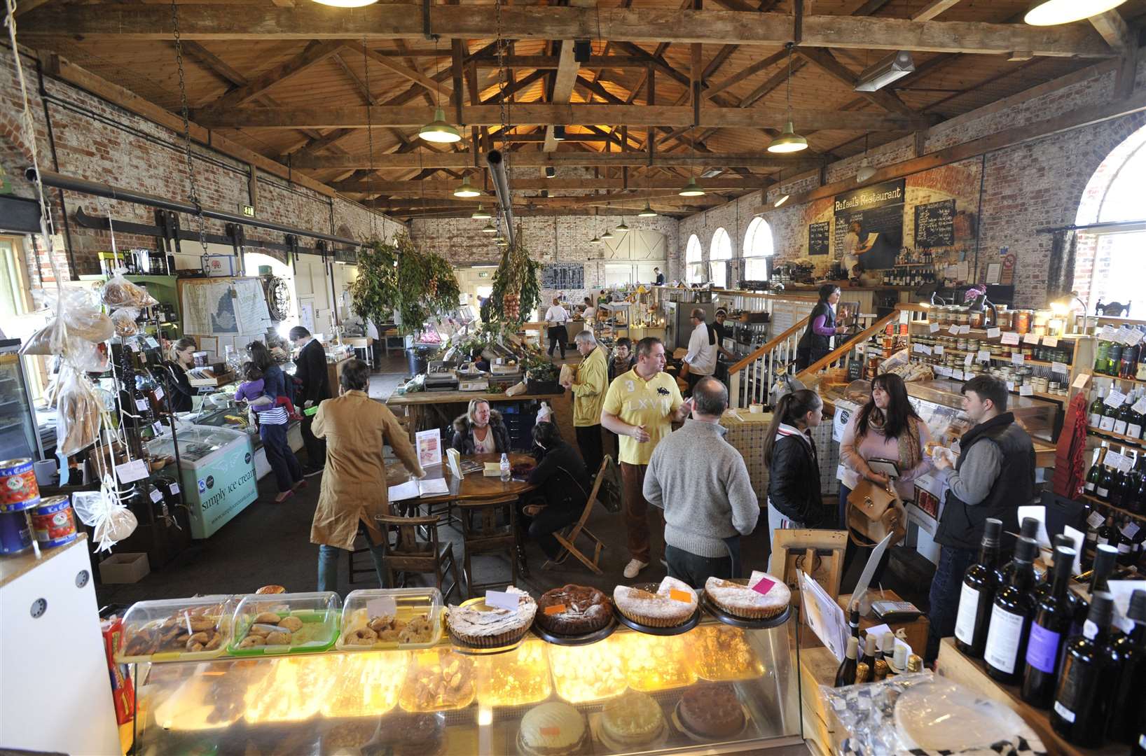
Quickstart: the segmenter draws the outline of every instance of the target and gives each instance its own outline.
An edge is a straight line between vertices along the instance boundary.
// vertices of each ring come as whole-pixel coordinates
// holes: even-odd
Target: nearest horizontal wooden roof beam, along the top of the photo
[[[330,13],[312,3],[297,8],[250,5],[182,6],[185,39],[422,39],[421,3],[378,3],[353,11]],[[751,6],[748,6],[751,9]],[[792,37],[786,14],[681,10],[660,8],[575,8],[507,6],[499,29],[494,14],[469,6],[429,7],[431,26],[447,38],[607,39],[653,44],[777,46]],[[101,3],[46,6],[21,30],[26,39],[80,34],[97,39],[171,39],[168,8]],[[908,18],[807,16],[801,44],[811,47],[906,49],[934,53],[999,54],[1030,50],[1035,55],[1108,57],[1109,47],[1082,24],[1038,27],[981,22],[913,22]]]

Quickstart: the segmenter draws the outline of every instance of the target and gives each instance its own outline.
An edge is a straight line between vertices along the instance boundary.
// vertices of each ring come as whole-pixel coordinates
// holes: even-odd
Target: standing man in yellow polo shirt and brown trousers
[[[630,580],[652,560],[649,502],[644,498],[649,459],[660,440],[673,432],[673,423],[684,422],[692,411],[691,400],[681,397],[676,380],[665,372],[665,345],[660,339],[641,339],[636,353],[636,367],[613,379],[601,409],[601,424],[620,436],[618,456],[630,557],[625,576]]]

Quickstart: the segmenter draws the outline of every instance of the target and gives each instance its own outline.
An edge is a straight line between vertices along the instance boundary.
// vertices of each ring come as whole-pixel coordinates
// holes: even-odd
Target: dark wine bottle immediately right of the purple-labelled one
[[[1082,635],[1067,641],[1062,656],[1062,674],[1051,707],[1051,729],[1074,746],[1102,745],[1116,672],[1104,653],[1113,616],[1114,600],[1109,593],[1091,597]]]

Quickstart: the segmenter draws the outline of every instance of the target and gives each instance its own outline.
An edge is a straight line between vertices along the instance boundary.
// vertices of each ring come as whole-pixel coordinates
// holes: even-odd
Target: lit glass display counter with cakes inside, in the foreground
[[[802,748],[796,633],[792,613],[767,630],[705,617],[678,636],[621,628],[586,646],[527,636],[497,654],[469,655],[442,643],[413,651],[142,663],[133,670],[135,753]],[[549,747],[525,745],[539,741]]]

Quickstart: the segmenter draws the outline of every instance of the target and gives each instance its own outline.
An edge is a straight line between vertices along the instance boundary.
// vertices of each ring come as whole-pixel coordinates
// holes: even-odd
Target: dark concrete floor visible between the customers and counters
[[[575,353],[571,352],[567,362],[573,362]],[[559,362],[559,361],[558,361]],[[375,373],[370,381],[370,395],[384,400],[394,387],[405,380],[405,362],[391,359]],[[555,402],[558,424],[563,435],[572,439],[572,408],[567,397]],[[607,451],[607,449],[606,449]],[[387,450],[388,452],[388,450]],[[305,455],[300,452],[300,462],[305,464]],[[276,494],[273,477],[259,482],[259,501],[251,504],[234,520],[223,526],[215,535],[205,541],[195,541],[172,564],[162,570],[152,572],[139,583],[127,585],[97,585],[96,596],[101,606],[121,605],[124,607],[144,599],[164,599],[190,597],[207,593],[248,593],[261,585],[280,584],[288,591],[313,591],[317,585],[319,548],[311,543],[311,521],[317,504],[321,475],[307,479],[308,486],[283,504],[274,504]],[[659,562],[664,556],[664,525],[659,511],[653,517],[653,564],[645,568],[638,580],[659,581],[665,576],[665,567]],[[588,527],[605,543],[601,567],[603,575],[595,575],[588,568],[570,558],[557,569],[542,570],[544,557],[534,543],[526,543],[525,550],[531,567],[531,576],[518,582],[534,596],[564,585],[578,583],[594,585],[607,593],[618,583],[625,582],[621,574],[629,560],[625,546],[625,526],[621,514],[606,512],[596,507]],[[454,527],[441,527],[439,534],[454,542],[454,553],[461,559],[461,533]],[[745,574],[752,569],[764,569],[768,562],[770,544],[767,527],[767,513],[762,510],[756,530],[745,537],[741,544]],[[859,560],[845,578],[845,591],[850,590],[862,568]],[[355,557],[359,568],[371,566],[367,553]],[[347,592],[362,588],[376,588],[378,582],[371,573],[360,573],[355,583],[350,583],[346,558],[338,562],[338,591],[344,597]],[[473,578],[479,583],[509,581],[510,564],[499,556],[481,556],[473,558]],[[889,573],[892,570],[888,570]],[[432,580],[432,575],[429,576]],[[425,584],[423,577],[413,578],[413,584]],[[889,577],[890,588],[896,588],[894,577]],[[901,592],[903,594],[904,592]],[[919,597],[905,594],[920,608]],[[457,600],[456,598],[454,599]]]

